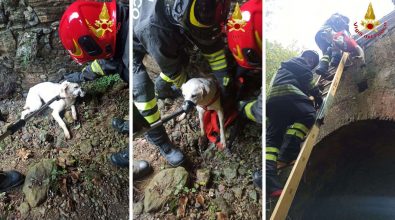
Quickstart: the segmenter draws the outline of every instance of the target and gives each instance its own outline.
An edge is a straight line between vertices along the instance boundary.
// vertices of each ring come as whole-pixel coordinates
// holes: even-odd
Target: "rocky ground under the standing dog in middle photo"
[[[181,106],[182,99],[159,101],[162,114]],[[197,112],[166,124],[170,139],[186,154],[183,167],[172,169],[144,138],[133,141],[133,158],[150,162],[154,173],[134,180],[134,219],[261,219],[262,191],[251,174],[262,166],[262,128],[248,123],[232,154],[214,145],[198,145]],[[229,130],[229,129],[228,129]]]

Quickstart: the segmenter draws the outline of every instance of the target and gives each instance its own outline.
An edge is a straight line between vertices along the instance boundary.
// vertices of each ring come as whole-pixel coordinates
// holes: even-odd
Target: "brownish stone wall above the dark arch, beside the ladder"
[[[366,67],[356,62],[343,72],[330,111],[321,126],[319,140],[355,121],[395,121],[395,13],[387,33],[365,48]],[[364,45],[364,44],[362,44]],[[317,141],[317,143],[319,142]]]

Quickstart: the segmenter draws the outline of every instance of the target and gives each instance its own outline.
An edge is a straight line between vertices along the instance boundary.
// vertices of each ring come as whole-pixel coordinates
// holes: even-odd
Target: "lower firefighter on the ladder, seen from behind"
[[[322,104],[318,87],[313,87],[312,70],[319,56],[312,50],[282,62],[272,81],[266,103],[266,184],[267,196],[282,192],[277,175],[277,161],[289,164],[300,151],[300,144],[314,124],[316,109],[309,96]]]

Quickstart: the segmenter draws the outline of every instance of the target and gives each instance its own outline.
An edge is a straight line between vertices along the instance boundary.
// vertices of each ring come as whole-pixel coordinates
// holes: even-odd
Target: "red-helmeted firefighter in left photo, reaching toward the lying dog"
[[[93,61],[81,72],[65,75],[67,81],[80,83],[118,73],[129,82],[128,1],[72,3],[60,20],[59,37],[74,61],[79,64]],[[128,121],[113,119],[112,124],[119,132],[129,131]],[[111,158],[127,158],[127,165],[115,161],[120,162],[115,165],[127,167],[129,151],[118,152]]]

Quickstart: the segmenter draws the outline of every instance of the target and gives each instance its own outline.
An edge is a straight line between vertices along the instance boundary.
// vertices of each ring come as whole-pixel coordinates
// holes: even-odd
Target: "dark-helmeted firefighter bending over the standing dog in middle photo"
[[[222,94],[226,95],[230,77],[220,24],[226,19],[229,3],[229,0],[134,1],[133,101],[148,123],[160,120],[157,98],[171,96],[171,86],[180,88],[187,80],[188,42],[201,50]],[[146,54],[153,57],[162,71],[155,85],[142,63]],[[184,161],[184,155],[170,142],[163,126],[147,132],[146,137],[170,165],[178,166]]]

